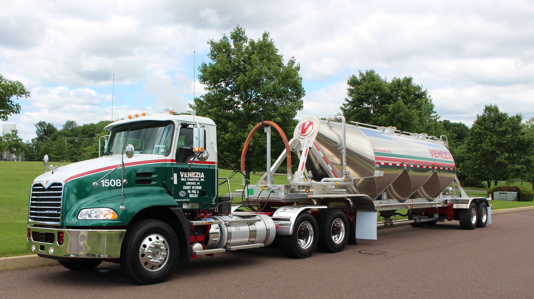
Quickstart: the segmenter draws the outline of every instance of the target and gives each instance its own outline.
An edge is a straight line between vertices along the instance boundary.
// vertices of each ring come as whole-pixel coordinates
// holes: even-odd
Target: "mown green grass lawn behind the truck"
[[[60,164],[60,163],[53,163]],[[0,257],[25,255],[26,254],[26,225],[28,221],[28,201],[30,187],[35,177],[43,174],[42,162],[7,162],[0,161]],[[219,177],[228,177],[231,170],[219,169]],[[261,173],[250,174],[255,183],[262,176]],[[275,184],[286,184],[284,175],[276,174]],[[219,181],[222,182],[222,181]],[[243,188],[242,178],[235,175],[230,179],[232,192]],[[523,184],[525,185],[525,184]],[[469,196],[486,196],[483,188],[481,191],[468,191]],[[228,192],[227,184],[219,186],[219,195],[224,196]],[[234,203],[241,203],[240,198],[234,198]],[[492,202],[493,209],[507,209],[515,207],[534,206],[534,202],[500,201]],[[406,214],[406,210],[398,210],[398,213]],[[405,217],[395,216],[393,219]],[[382,217],[378,221],[383,221]]]

